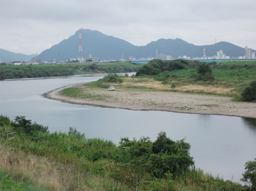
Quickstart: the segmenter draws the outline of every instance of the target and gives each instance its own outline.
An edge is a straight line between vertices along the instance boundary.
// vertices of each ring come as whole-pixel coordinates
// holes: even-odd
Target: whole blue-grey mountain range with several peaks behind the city
[[[194,45],[190,44],[180,38],[173,39],[159,39],[150,42],[145,46],[135,46],[120,38],[108,36],[93,31],[90,29],[82,29],[82,45],[83,55],[87,57],[89,54],[93,57],[98,57],[100,60],[117,60],[120,59],[122,53],[124,59],[129,56],[135,58],[147,58],[156,56],[156,49],[158,53],[172,55],[174,58],[178,56],[202,57],[203,48],[206,47],[206,56],[214,56],[217,51],[223,50],[227,56],[244,56],[245,49],[229,42],[218,42],[211,45]],[[42,60],[64,60],[65,58],[77,58],[79,46],[79,31],[68,39],[62,40],[59,44],[53,45],[38,55]],[[255,51],[255,50],[254,50]]]

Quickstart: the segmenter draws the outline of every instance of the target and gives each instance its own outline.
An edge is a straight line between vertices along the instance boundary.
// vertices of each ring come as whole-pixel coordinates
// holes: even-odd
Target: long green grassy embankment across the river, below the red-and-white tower
[[[93,73],[135,72],[141,65],[142,64],[130,64],[130,62],[0,65],[0,80]]]

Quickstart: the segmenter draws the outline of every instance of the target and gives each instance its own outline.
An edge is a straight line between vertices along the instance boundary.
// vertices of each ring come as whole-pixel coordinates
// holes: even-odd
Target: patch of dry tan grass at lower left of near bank
[[[74,165],[63,165],[45,157],[5,149],[0,168],[15,180],[29,181],[54,191],[90,190],[84,186],[86,175]]]

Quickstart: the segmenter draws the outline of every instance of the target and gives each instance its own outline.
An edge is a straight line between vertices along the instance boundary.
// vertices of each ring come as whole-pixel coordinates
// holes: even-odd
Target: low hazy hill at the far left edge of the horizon
[[[0,49],[0,62],[6,61],[20,61],[20,60],[27,60],[30,61],[33,56],[35,55],[24,55],[20,53],[13,53],[4,49]]]

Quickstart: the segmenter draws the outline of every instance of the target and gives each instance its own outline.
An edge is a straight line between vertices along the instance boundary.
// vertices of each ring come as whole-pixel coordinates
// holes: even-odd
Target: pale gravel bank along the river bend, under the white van
[[[70,98],[60,95],[67,87],[79,87],[90,94],[106,95],[104,100]],[[46,98],[72,104],[131,110],[158,110],[205,115],[228,115],[256,118],[256,103],[232,102],[231,98],[160,91],[130,91],[69,85],[43,94]]]

